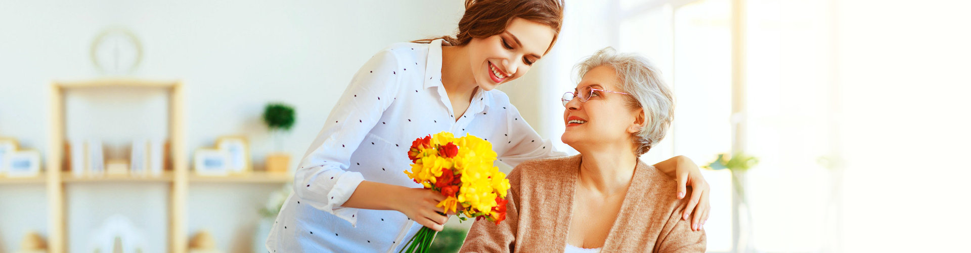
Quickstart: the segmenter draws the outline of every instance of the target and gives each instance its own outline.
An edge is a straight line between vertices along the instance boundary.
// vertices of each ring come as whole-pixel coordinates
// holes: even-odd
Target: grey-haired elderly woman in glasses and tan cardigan
[[[671,90],[647,59],[611,48],[578,68],[562,140],[580,155],[516,166],[506,220],[476,221],[461,252],[705,251],[680,215],[687,199],[666,194],[676,182],[638,160],[671,124]]]

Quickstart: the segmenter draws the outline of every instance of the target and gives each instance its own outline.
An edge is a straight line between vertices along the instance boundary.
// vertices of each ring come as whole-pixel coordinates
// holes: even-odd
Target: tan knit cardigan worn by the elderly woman
[[[508,176],[506,220],[498,226],[476,221],[460,252],[563,252],[580,160],[577,155],[516,166]],[[690,221],[681,219],[689,198],[677,199],[676,189],[675,180],[638,162],[601,252],[704,252],[705,233],[691,231]]]

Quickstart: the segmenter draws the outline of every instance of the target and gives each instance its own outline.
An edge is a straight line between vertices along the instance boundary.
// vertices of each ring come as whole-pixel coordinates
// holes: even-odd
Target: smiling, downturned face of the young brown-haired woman
[[[549,25],[514,18],[500,34],[469,42],[469,59],[476,84],[492,90],[525,75],[552,43]]]

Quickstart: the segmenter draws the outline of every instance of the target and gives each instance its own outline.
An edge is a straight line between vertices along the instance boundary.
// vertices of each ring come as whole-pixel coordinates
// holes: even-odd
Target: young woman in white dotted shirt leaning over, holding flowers
[[[412,141],[427,134],[482,137],[511,166],[565,155],[525,123],[505,93],[493,90],[525,75],[550,51],[562,8],[558,0],[467,1],[456,37],[394,44],[375,54],[299,164],[268,250],[390,252],[421,226],[441,231],[448,218],[435,205],[444,198],[402,172],[411,163]],[[695,189],[684,217],[696,210],[700,224],[708,186],[697,165],[683,157],[655,165]],[[678,193],[683,198],[686,190]]]

